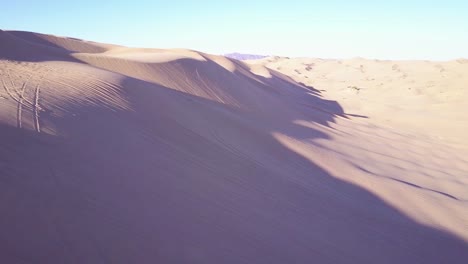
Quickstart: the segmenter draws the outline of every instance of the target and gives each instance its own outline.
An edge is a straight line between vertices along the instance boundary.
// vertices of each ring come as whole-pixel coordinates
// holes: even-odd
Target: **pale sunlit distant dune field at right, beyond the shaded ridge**
[[[322,91],[372,122],[416,128],[467,144],[468,61],[267,58],[253,63]],[[459,142],[463,140],[464,142]]]

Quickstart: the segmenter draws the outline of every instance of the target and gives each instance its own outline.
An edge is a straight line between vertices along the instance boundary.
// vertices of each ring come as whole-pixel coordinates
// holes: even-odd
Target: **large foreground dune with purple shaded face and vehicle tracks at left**
[[[275,137],[332,138],[346,115],[319,91],[211,60],[83,61],[2,62],[0,262],[468,259],[465,241]]]

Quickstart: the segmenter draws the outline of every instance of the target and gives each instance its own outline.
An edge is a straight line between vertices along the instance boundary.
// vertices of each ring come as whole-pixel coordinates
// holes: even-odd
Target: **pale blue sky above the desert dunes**
[[[318,58],[468,58],[466,0],[0,0],[0,7],[3,30],[131,47]]]

